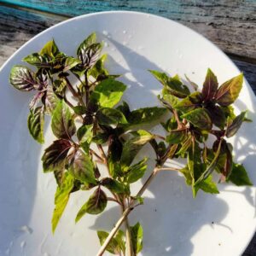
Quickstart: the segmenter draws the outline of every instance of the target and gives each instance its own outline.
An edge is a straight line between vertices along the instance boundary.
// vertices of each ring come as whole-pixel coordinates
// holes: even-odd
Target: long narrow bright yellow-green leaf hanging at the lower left
[[[51,219],[53,233],[55,232],[56,226],[59,223],[65,207],[67,206],[69,195],[73,189],[73,183],[73,177],[68,172],[66,172],[61,186],[57,187],[55,193],[55,210]]]

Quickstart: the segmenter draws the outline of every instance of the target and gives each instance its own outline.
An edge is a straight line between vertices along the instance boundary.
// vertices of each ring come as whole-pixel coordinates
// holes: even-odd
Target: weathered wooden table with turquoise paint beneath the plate
[[[256,0],[0,0],[0,67],[49,26],[75,15],[118,9],[165,16],[200,32],[230,56],[256,93]],[[256,235],[243,253],[255,255]]]

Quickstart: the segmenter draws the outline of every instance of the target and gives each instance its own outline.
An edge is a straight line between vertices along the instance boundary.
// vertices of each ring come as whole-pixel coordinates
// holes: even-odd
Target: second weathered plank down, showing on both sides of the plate
[[[43,15],[0,6],[0,66],[9,55],[38,32],[65,19],[61,16]],[[232,59],[236,66],[245,73],[247,81],[256,92],[256,64]]]

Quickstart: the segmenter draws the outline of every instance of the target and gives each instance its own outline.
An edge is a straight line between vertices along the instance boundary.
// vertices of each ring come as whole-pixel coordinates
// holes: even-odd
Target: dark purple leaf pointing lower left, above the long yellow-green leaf
[[[72,144],[64,139],[53,142],[44,150],[42,157],[44,172],[62,170],[67,162],[67,153]]]

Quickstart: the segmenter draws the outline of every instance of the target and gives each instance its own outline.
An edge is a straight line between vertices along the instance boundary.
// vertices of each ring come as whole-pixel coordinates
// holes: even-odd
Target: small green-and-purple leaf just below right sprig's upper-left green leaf
[[[195,91],[194,93],[185,97],[181,102],[178,102],[174,108],[183,113],[187,113],[195,108],[201,107],[201,100],[201,93],[199,91]]]

